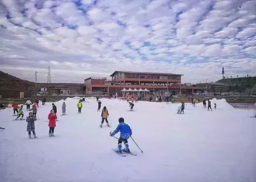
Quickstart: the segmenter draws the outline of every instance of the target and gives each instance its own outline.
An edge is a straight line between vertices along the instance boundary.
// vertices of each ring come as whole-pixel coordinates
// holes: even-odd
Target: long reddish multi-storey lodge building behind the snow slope
[[[191,95],[192,93],[204,93],[204,87],[186,86],[181,84],[180,74],[150,73],[132,71],[114,71],[106,77],[90,77],[84,80],[86,93],[91,95],[110,94],[122,95],[122,90],[134,91],[148,89],[150,95]]]

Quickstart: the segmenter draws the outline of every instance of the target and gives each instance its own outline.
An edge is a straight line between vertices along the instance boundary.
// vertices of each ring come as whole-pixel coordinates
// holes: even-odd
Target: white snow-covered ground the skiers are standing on
[[[62,101],[56,102],[58,122],[48,137],[48,113],[52,103],[38,108],[35,122],[38,138],[28,139],[26,121],[12,121],[12,109],[0,111],[1,182],[255,182],[256,119],[252,111],[234,109],[224,99],[214,111],[202,103],[135,103],[128,112],[126,101],[101,99],[107,107],[112,128],[99,127],[101,112],[96,99],[86,99],[82,114],[78,99],[66,99],[66,116],[60,116]],[[24,111],[25,116],[28,112]],[[111,149],[117,139],[110,137],[118,118],[133,131],[130,149],[138,154],[119,156]],[[119,133],[115,135],[119,137]]]

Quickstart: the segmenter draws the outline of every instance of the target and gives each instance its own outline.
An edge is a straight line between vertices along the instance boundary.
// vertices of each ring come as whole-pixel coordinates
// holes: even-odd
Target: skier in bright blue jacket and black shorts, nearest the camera
[[[124,118],[120,117],[118,119],[118,121],[119,121],[119,125],[116,127],[116,130],[114,130],[112,133],[110,133],[110,136],[112,137],[120,131],[120,138],[118,140],[118,148],[117,148],[116,152],[122,154],[122,142],[124,142],[125,147],[124,147],[123,151],[130,153],[129,144],[128,144],[127,139],[130,136],[132,136],[132,129],[130,128],[129,125],[124,123]]]

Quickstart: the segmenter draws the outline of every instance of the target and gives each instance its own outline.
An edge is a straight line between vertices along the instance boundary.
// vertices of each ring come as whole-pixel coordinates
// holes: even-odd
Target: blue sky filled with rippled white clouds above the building
[[[116,70],[182,83],[256,75],[256,0],[0,0],[0,70],[83,83]]]

